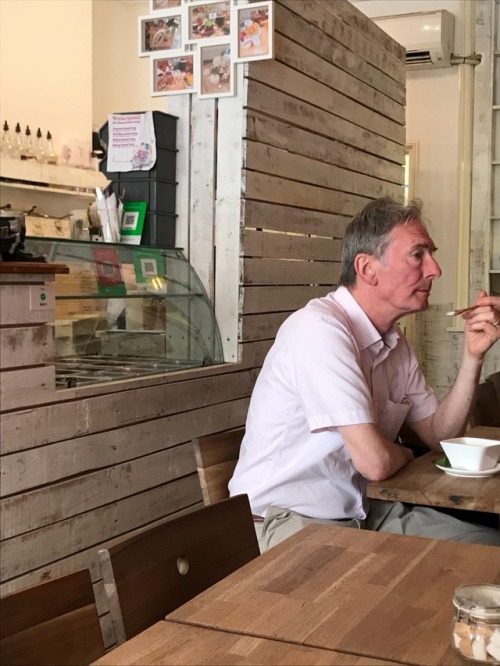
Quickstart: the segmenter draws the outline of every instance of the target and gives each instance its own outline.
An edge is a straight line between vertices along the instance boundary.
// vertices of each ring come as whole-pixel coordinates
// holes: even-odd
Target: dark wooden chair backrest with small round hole
[[[123,643],[260,554],[247,495],[202,507],[98,553]]]

